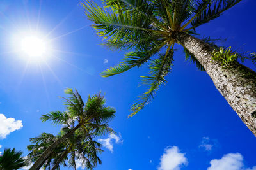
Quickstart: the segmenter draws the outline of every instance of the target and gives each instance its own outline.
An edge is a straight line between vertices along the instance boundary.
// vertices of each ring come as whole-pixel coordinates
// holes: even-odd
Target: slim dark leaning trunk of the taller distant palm
[[[57,141],[54,141],[54,143],[52,143],[52,145],[50,145],[42,153],[42,155],[36,160],[36,162],[33,164],[33,166],[30,167],[29,170],[40,169],[40,165],[51,154],[52,150],[54,150],[54,148],[56,148],[56,146],[58,146],[61,142],[65,141],[65,139],[67,139],[69,136],[71,136],[76,131],[76,129],[78,129],[79,127],[81,127],[81,124],[76,125],[76,127],[74,127],[74,129],[72,129],[72,131],[67,132],[67,134],[63,135],[60,139],[58,139]]]

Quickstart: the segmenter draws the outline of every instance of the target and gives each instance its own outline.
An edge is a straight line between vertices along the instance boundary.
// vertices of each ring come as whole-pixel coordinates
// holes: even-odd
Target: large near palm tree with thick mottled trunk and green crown
[[[142,110],[159,86],[166,83],[177,43],[209,74],[222,96],[256,135],[256,73],[239,64],[237,59],[243,61],[244,57],[234,52],[219,52],[213,59],[212,53],[218,52],[218,48],[195,38],[198,26],[214,20],[240,1],[104,0],[103,7],[88,0],[81,3],[97,34],[107,39],[104,46],[132,50],[125,54],[123,62],[103,71],[103,77],[151,62],[149,76],[142,80],[148,90],[132,105],[129,117]],[[228,63],[225,56],[233,62]],[[249,59],[255,59],[255,55]]]

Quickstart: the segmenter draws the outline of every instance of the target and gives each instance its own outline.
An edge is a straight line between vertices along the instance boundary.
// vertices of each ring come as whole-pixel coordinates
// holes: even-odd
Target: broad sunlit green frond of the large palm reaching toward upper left
[[[150,20],[130,10],[116,13],[108,8],[109,11],[106,11],[89,1],[84,1],[82,6],[88,19],[94,23],[93,28],[98,31],[97,34],[112,41],[120,41],[127,37],[133,39],[148,32],[161,32],[152,28]]]

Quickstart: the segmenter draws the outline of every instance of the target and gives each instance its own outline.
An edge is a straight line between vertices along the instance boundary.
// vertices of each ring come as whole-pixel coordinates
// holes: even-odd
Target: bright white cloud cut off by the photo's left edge
[[[0,138],[6,138],[8,134],[22,127],[21,120],[6,118],[3,114],[0,114]]]

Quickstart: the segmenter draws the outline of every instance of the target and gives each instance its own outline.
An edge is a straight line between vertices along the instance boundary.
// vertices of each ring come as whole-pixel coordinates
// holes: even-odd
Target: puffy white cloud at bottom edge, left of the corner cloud
[[[180,166],[188,164],[186,153],[180,153],[177,146],[168,146],[160,158],[158,170],[179,170]]]

